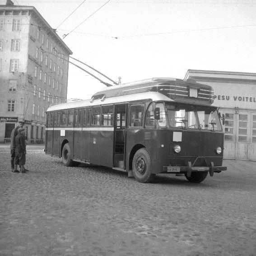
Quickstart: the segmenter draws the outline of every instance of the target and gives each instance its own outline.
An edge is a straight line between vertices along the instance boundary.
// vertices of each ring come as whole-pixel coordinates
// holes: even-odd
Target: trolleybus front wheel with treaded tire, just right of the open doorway
[[[138,182],[152,182],[155,174],[151,173],[151,160],[146,149],[139,149],[132,160],[132,172]]]

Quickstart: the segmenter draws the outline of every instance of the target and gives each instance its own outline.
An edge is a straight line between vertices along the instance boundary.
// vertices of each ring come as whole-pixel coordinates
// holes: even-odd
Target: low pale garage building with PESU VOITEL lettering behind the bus
[[[225,116],[224,158],[256,161],[256,74],[188,70],[185,79],[214,88],[214,105]]]

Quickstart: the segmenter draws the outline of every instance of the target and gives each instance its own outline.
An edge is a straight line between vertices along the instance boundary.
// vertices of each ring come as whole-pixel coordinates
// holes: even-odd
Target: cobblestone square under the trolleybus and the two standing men
[[[203,183],[142,184],[102,167],[65,167],[28,145],[11,173],[0,145],[0,256],[256,256],[256,162],[225,160]]]

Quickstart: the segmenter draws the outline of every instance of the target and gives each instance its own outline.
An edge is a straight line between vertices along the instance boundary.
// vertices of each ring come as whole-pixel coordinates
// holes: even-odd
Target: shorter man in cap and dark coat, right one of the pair
[[[14,172],[18,171],[18,164],[20,165],[20,172],[28,171],[24,168],[26,163],[26,144],[24,128],[18,129],[18,135],[15,137],[15,158],[14,158]]]

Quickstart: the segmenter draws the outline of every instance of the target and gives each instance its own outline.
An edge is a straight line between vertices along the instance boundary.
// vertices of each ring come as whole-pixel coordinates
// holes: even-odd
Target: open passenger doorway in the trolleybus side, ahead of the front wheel
[[[126,109],[127,104],[115,106],[114,124],[114,168],[126,169]]]

